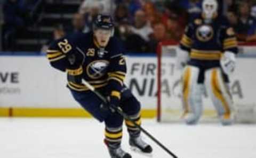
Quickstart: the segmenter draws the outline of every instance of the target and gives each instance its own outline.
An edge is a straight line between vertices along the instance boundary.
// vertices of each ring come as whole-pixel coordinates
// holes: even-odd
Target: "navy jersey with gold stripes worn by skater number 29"
[[[105,48],[99,47],[93,33],[76,33],[51,43],[47,58],[51,66],[67,72],[68,88],[88,91],[82,78],[95,88],[111,86],[120,92],[126,74],[123,48],[111,37]]]

